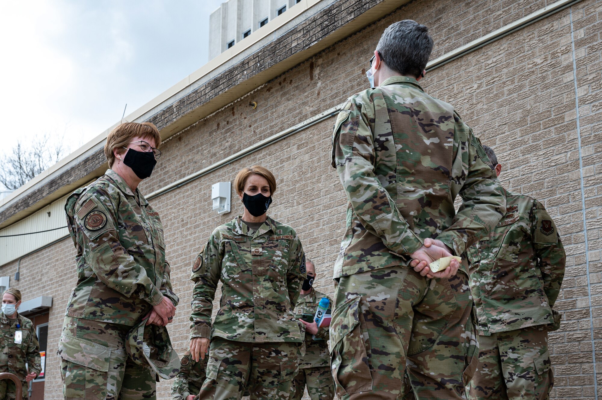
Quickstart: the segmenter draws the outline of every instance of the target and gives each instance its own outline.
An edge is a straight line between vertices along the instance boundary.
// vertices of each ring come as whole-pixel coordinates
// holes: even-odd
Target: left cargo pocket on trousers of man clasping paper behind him
[[[370,340],[360,302],[361,296],[347,300],[335,309],[330,324],[330,366],[340,398],[372,389]]]

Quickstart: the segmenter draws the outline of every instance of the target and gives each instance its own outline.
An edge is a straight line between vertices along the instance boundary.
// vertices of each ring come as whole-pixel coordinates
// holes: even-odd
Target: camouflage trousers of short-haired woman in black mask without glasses
[[[199,400],[240,400],[245,389],[252,400],[288,400],[297,353],[299,344],[294,342],[235,342],[216,336],[209,345]]]

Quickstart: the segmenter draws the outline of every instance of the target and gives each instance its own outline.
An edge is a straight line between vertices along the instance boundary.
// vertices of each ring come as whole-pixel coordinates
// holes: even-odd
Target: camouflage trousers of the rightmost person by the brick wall
[[[467,390],[471,400],[545,400],[554,386],[544,326],[479,336],[479,363]]]

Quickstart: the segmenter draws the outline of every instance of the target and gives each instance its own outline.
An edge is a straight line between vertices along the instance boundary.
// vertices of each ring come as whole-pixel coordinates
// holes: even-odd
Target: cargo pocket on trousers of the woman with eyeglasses
[[[110,348],[63,333],[58,342],[57,354],[62,359],[61,374],[65,399],[108,396]]]

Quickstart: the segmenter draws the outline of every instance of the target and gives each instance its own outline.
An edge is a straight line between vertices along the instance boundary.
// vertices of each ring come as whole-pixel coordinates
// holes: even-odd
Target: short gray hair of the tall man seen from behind
[[[402,75],[420,76],[433,50],[429,28],[411,19],[385,29],[376,46],[382,60]]]

